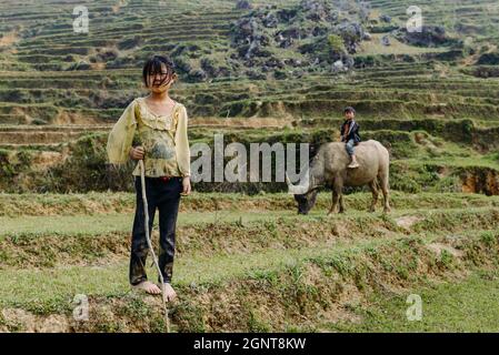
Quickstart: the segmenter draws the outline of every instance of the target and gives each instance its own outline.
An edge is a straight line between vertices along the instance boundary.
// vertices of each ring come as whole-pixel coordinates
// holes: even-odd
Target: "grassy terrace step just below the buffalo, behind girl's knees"
[[[184,215],[189,216],[189,213]],[[369,240],[393,240],[415,233],[460,235],[485,225],[489,229],[499,226],[499,210],[491,206],[399,210],[388,215],[363,211],[332,216],[326,216],[326,211],[307,216],[289,211],[231,211],[217,219],[212,213],[193,215],[193,220],[179,223],[177,230],[177,252],[187,258],[252,255],[269,250],[292,252],[343,242],[353,246]],[[116,261],[129,256],[132,219],[126,221],[126,215],[110,217],[113,223],[92,215],[30,217],[29,223],[23,219],[0,220],[4,225],[0,237],[0,268],[112,266]],[[92,229],[87,230],[87,224]],[[493,235],[490,237],[493,240]],[[154,234],[154,242],[156,239]]]

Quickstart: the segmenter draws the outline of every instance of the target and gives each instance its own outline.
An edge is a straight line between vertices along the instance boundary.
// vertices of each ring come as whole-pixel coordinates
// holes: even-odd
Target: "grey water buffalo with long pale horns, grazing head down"
[[[378,202],[378,190],[383,193],[383,212],[390,212],[389,203],[389,165],[390,156],[387,149],[378,141],[369,140],[360,142],[356,148],[357,161],[360,166],[348,169],[350,158],[345,148],[345,143],[325,143],[319,148],[316,156],[310,162],[307,171],[307,183],[293,185],[286,176],[289,192],[295,194],[298,202],[298,213],[307,214],[315,205],[318,189],[321,185],[332,186],[332,205],[328,215],[336,212],[338,202],[339,212],[345,212],[342,197],[343,186],[362,186],[368,184],[372,192],[372,203],[369,209],[375,212]],[[378,181],[377,181],[378,178]]]

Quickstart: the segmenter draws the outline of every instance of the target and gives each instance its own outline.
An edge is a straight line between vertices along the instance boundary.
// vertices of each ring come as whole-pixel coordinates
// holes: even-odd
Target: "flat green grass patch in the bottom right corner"
[[[368,307],[356,313],[360,324],[326,325],[340,332],[499,332],[499,275],[475,271],[465,280],[407,290],[400,296],[377,294]],[[420,295],[421,321],[408,321],[406,303],[410,294]]]

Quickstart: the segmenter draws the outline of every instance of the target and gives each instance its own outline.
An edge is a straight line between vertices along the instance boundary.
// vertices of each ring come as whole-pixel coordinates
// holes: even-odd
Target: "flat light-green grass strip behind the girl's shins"
[[[483,241],[483,233],[489,232],[497,235],[498,231],[468,231],[460,236],[460,240],[471,243],[467,246],[468,248],[476,248],[473,243],[486,243],[487,245],[497,243],[497,237]],[[438,261],[441,257],[430,257],[429,255],[432,254],[425,251],[425,245],[441,240],[442,236],[437,234],[413,234],[410,236],[399,235],[399,239],[385,236],[366,240],[357,242],[355,245],[347,241],[317,247],[266,250],[252,254],[236,253],[214,257],[179,255],[174,266],[173,285],[187,292],[190,287],[223,290],[226,285],[236,281],[244,283],[250,280],[262,280],[272,284],[279,273],[301,273],[301,267],[309,264],[321,267],[329,276],[332,275],[331,273],[339,273],[347,278],[356,277],[356,275],[370,277],[368,276],[370,273],[366,274],[366,272],[372,267],[372,263],[386,261],[388,264],[381,263],[386,268],[385,272],[378,272],[376,277],[387,277],[386,273],[388,272],[398,275],[397,277],[402,277],[405,282],[413,283],[421,277],[421,271],[418,271],[418,263],[413,263],[413,257],[417,257],[417,261],[429,263],[429,267],[446,270],[456,267],[453,265],[458,261],[453,258],[440,266],[438,263],[435,264],[432,258]],[[419,273],[419,276],[410,275],[412,272]],[[42,270],[0,270],[0,305],[21,307],[38,313],[68,312],[71,310],[71,301],[76,294],[86,294],[90,297],[124,296],[130,290],[127,275],[128,261],[124,260],[104,267],[59,266]],[[151,280],[156,278],[156,272],[150,267],[149,276]],[[426,280],[426,276],[421,280]],[[358,287],[361,290],[367,286],[365,284],[367,281],[358,280]]]

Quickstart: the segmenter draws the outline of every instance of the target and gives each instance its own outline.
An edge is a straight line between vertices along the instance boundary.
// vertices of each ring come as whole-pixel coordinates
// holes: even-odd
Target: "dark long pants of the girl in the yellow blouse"
[[[149,231],[152,231],[156,209],[159,210],[159,267],[164,283],[171,282],[174,256],[174,232],[177,214],[179,211],[180,193],[182,192],[182,178],[146,178],[146,196],[149,207]],[[133,220],[131,255],[130,255],[130,284],[137,285],[147,280],[146,258],[149,246],[146,240],[144,213],[142,201],[142,184],[140,176],[136,178],[137,206]]]

